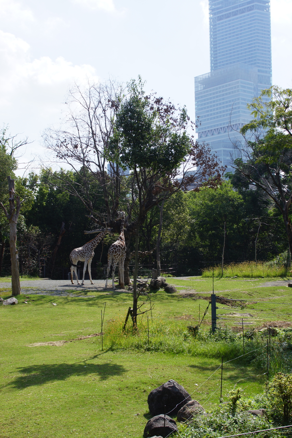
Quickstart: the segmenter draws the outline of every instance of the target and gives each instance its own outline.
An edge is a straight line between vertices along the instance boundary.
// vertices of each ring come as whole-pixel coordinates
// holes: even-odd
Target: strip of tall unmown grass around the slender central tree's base
[[[160,351],[162,353],[190,354],[192,356],[225,360],[234,359],[243,354],[243,343],[239,335],[229,333],[225,336],[224,329],[215,335],[200,330],[194,338],[187,329],[186,322],[168,321],[149,318],[149,343],[147,320],[139,323],[138,331],[133,334],[130,325],[122,331],[123,321],[109,321],[105,328],[104,346],[109,350],[140,350]],[[255,350],[262,342],[246,340],[245,351]],[[251,353],[243,358],[249,363],[254,359]]]

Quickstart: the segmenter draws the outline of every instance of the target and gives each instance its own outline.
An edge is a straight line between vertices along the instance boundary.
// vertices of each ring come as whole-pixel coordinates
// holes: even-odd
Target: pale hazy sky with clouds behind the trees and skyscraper
[[[208,0],[0,0],[0,124],[33,141],[86,77],[129,81],[186,105],[209,71]],[[271,0],[273,83],[292,87],[292,0]]]

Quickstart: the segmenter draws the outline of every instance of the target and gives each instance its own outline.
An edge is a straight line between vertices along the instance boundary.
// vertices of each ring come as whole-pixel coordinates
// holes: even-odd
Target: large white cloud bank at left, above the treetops
[[[0,31],[0,126],[23,132],[35,140],[30,153],[42,151],[40,133],[60,120],[62,102],[69,86],[99,81],[94,67],[73,65],[63,57],[31,59],[30,46],[15,35]]]

